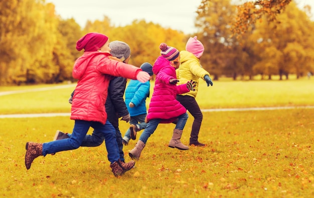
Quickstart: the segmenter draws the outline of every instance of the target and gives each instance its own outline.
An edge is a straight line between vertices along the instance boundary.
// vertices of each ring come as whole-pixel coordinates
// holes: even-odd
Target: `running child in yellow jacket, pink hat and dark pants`
[[[200,58],[204,52],[204,45],[197,39],[197,36],[190,37],[186,50],[180,52],[181,66],[177,69],[177,77],[180,80],[178,84],[187,83],[189,80],[196,82],[195,91],[189,91],[177,95],[177,100],[192,114],[194,121],[190,135],[190,145],[205,146],[204,143],[199,142],[199,132],[203,120],[203,113],[197,103],[195,97],[198,92],[199,78],[206,81],[207,86],[213,86],[213,81],[210,74],[200,64]]]

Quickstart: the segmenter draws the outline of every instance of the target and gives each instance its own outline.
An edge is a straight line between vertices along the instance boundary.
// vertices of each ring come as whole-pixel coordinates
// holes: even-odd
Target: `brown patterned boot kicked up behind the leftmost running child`
[[[31,164],[34,159],[40,155],[43,155],[43,144],[35,142],[26,143],[25,165],[26,169],[31,168]]]

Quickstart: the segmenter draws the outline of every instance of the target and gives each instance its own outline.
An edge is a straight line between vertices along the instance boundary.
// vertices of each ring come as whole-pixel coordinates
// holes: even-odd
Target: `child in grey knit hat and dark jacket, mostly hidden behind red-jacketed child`
[[[129,45],[123,41],[115,40],[109,43],[109,47],[111,49],[110,53],[112,56],[109,58],[116,59],[120,62],[128,63],[131,57],[131,49]],[[124,90],[126,86],[126,78],[121,76],[112,76],[110,79],[109,86],[108,86],[108,96],[105,103],[107,119],[113,125],[116,132],[116,140],[119,147],[119,156],[120,160],[124,162],[124,152],[123,152],[123,144],[122,144],[122,135],[119,129],[119,118],[128,122],[130,120],[130,114],[126,107],[126,104],[123,99]],[[138,80],[136,80],[138,81]],[[139,83],[142,83],[138,81]],[[149,84],[149,81],[145,83]],[[145,84],[143,83],[143,84]],[[72,102],[72,96],[74,91],[71,94],[69,102]],[[70,133],[63,133],[57,130],[54,140],[68,138],[71,134]],[[81,144],[81,146],[99,146],[102,144],[103,140],[105,139],[104,135],[101,131],[94,130],[93,133],[87,134]]]

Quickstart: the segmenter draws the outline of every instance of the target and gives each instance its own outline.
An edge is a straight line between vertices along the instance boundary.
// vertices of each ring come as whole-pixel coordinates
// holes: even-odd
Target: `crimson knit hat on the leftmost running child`
[[[76,42],[76,49],[85,51],[97,51],[108,40],[108,37],[102,33],[87,33]]]

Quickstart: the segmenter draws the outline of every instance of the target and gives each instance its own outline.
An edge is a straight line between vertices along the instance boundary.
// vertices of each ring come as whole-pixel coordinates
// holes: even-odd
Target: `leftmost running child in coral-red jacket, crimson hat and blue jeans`
[[[135,162],[124,163],[119,159],[115,129],[107,121],[105,101],[111,76],[123,76],[145,82],[149,74],[140,68],[110,59],[109,39],[100,33],[87,33],[76,43],[76,49],[84,53],[74,64],[73,77],[78,79],[72,101],[71,119],[75,120],[70,138],[46,143],[27,142],[25,165],[30,169],[33,160],[47,154],[78,148],[89,127],[101,131],[105,137],[108,160],[115,176],[131,169]]]

